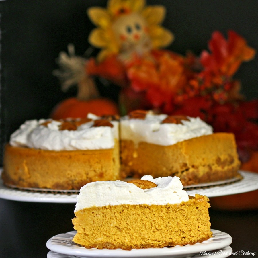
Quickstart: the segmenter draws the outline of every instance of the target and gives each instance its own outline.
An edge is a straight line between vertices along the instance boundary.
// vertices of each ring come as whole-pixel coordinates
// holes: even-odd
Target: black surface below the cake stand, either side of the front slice
[[[19,202],[0,199],[0,257],[47,257],[46,242],[52,236],[73,230],[75,204]],[[219,211],[210,208],[211,228],[232,236],[237,255],[258,257],[258,212]],[[200,256],[201,257],[201,256]]]

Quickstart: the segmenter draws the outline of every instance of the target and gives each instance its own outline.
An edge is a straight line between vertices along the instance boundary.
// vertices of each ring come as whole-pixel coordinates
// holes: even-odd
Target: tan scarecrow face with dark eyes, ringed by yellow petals
[[[133,51],[139,47],[144,51],[144,48],[150,48],[151,40],[146,21],[138,13],[122,15],[112,28],[122,51]]]

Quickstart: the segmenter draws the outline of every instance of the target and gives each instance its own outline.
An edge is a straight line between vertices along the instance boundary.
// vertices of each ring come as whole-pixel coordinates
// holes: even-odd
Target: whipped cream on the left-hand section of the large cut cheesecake
[[[118,122],[110,121],[113,127],[93,127],[98,117],[89,114],[90,122],[80,124],[76,130],[60,130],[62,122],[40,119],[28,120],[10,137],[11,146],[42,150],[96,150],[114,147],[118,139]]]

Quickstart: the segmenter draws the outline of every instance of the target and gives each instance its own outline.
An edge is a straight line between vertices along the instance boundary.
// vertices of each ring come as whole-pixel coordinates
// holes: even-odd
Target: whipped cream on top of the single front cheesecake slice
[[[97,181],[84,185],[77,196],[75,212],[93,206],[114,206],[121,204],[167,205],[188,201],[179,177],[159,177],[146,175],[141,178],[157,185],[141,189],[132,183],[117,181]]]

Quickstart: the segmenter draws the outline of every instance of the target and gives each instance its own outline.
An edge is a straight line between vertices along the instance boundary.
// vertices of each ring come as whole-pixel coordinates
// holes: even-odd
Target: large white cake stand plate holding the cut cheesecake
[[[198,187],[195,189],[186,189],[189,195],[194,196],[196,193],[208,197],[225,196],[236,193],[245,193],[258,189],[258,174],[239,171],[243,179],[234,183],[225,185],[216,185],[209,187]],[[226,182],[226,181],[225,181]],[[60,194],[22,191],[8,188],[0,180],[0,198],[21,202],[48,202],[48,203],[76,203],[77,194]]]

